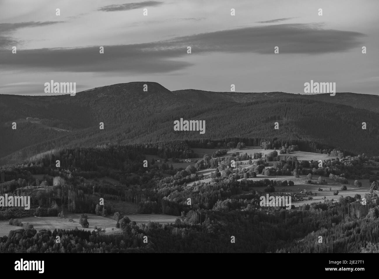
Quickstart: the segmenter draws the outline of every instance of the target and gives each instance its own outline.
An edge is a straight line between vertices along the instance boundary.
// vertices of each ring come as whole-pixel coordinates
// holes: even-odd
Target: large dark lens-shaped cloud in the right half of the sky
[[[228,52],[271,54],[279,46],[280,53],[323,54],[345,52],[360,47],[366,36],[354,31],[323,29],[319,24],[279,24],[222,30],[158,42],[155,48],[192,47],[192,53]]]

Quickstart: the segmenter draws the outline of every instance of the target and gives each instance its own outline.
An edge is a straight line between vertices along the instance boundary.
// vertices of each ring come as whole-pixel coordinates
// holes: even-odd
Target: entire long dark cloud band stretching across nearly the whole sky
[[[346,52],[360,47],[363,33],[322,29],[314,24],[280,24],[247,27],[182,36],[143,44],[99,46],[72,49],[24,50],[17,55],[0,51],[0,67],[6,69],[46,69],[67,72],[127,72],[132,74],[173,72],[192,64],[180,61],[191,55],[224,53],[273,54],[279,46],[281,55]]]

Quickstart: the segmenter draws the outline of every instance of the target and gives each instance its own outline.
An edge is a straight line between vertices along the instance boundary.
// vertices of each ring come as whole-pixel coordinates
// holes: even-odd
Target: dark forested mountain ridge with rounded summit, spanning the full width
[[[148,85],[147,92],[143,91],[144,84]],[[60,147],[164,145],[230,138],[249,145],[270,140],[299,144],[308,151],[327,146],[378,155],[379,114],[361,108],[376,106],[377,110],[378,99],[354,93],[304,96],[192,89],[171,92],[155,82],[103,86],[76,96],[0,95],[0,164]],[[341,104],[346,102],[351,104]],[[71,132],[40,129],[33,123],[18,123],[17,130],[5,125],[27,117],[43,119],[51,123],[49,126],[67,127]],[[205,134],[174,131],[174,120],[180,118],[205,120]],[[99,122],[104,123],[104,130],[99,129]],[[274,122],[279,122],[279,130],[274,129]],[[362,130],[362,122],[367,123],[367,130]]]

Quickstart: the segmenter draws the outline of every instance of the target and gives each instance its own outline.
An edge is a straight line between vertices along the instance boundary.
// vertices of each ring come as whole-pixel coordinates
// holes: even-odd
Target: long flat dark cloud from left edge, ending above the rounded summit
[[[23,50],[17,55],[0,51],[0,65],[7,69],[36,68],[46,71],[66,72],[170,72],[188,67],[190,63],[170,60],[179,57],[182,50],[153,50],[153,44],[104,45],[74,49]],[[186,53],[186,49],[185,49]],[[42,59],[42,60],[41,60]]]

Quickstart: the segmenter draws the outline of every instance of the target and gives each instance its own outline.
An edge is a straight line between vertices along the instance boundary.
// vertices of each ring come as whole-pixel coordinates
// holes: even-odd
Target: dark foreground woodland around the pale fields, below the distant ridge
[[[277,155],[277,152],[272,152]],[[243,157],[244,155],[242,155]],[[184,169],[149,164],[134,148],[108,146],[98,148],[59,149],[37,156],[22,165],[1,170],[0,194],[31,196],[31,209],[3,209],[0,219],[9,220],[14,230],[0,237],[0,252],[377,252],[379,234],[379,198],[377,193],[339,196],[338,201],[310,202],[298,210],[265,211],[260,196],[270,187],[293,186],[279,180],[240,180],[265,172],[267,158],[249,169],[229,167],[230,160],[246,159],[239,154],[208,158],[201,163],[218,165],[211,182],[201,181],[192,166]],[[56,168],[55,160],[61,166]],[[273,158],[274,159],[274,158]],[[216,160],[216,162],[213,162]],[[288,156],[279,160],[277,174],[298,169],[302,174],[349,179],[377,177],[365,165],[365,156],[328,159],[324,167],[310,169],[309,161],[299,162]],[[202,164],[196,164],[200,168]],[[207,166],[204,166],[205,168]],[[34,176],[45,174],[44,180]],[[171,176],[163,177],[163,174]],[[271,176],[271,174],[266,174]],[[290,175],[290,174],[289,174]],[[98,178],[119,180],[111,185]],[[274,178],[274,176],[273,176]],[[288,177],[291,178],[290,176]],[[91,181],[87,181],[91,179]],[[193,182],[187,186],[187,182]],[[292,182],[292,183],[291,183]],[[346,182],[342,182],[346,183]],[[267,187],[268,186],[268,187]],[[258,191],[254,190],[258,187]],[[265,189],[265,187],[267,187]],[[377,190],[377,188],[373,188]],[[287,191],[287,190],[285,190]],[[99,205],[105,197],[105,205]],[[191,197],[193,204],[187,204]],[[112,201],[135,202],[139,213],[168,213],[180,216],[175,223],[136,223],[117,212]],[[106,235],[102,229],[34,229],[33,224],[19,224],[25,216],[58,216],[69,213],[114,215],[121,231]],[[83,216],[85,216],[83,214]],[[7,221],[8,222],[8,221]],[[78,224],[79,225],[79,224]],[[18,226],[18,227],[17,227]],[[87,227],[82,224],[83,227]],[[80,227],[80,226],[79,226]],[[61,238],[56,243],[56,236]],[[148,242],[143,241],[147,236]],[[318,243],[319,236],[323,242]],[[235,243],[231,243],[231,237]]]

